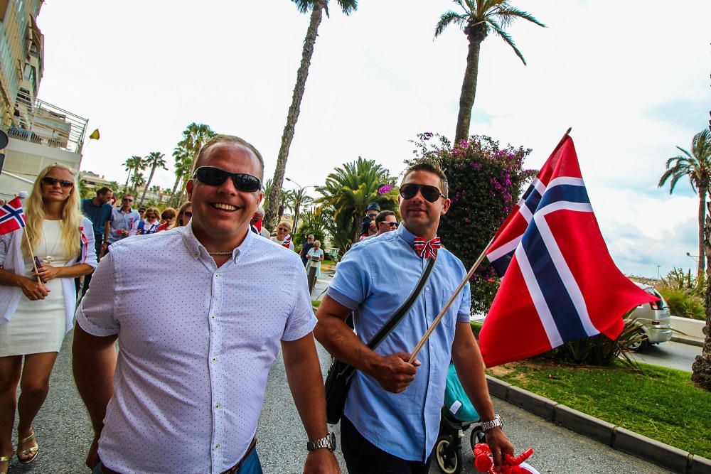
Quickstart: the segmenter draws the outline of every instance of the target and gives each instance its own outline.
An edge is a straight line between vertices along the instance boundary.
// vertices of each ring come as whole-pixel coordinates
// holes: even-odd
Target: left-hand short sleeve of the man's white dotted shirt
[[[94,271],[89,291],[82,298],[75,314],[77,323],[87,333],[103,337],[119,332],[119,322],[114,318],[116,271],[113,252],[101,259]]]

